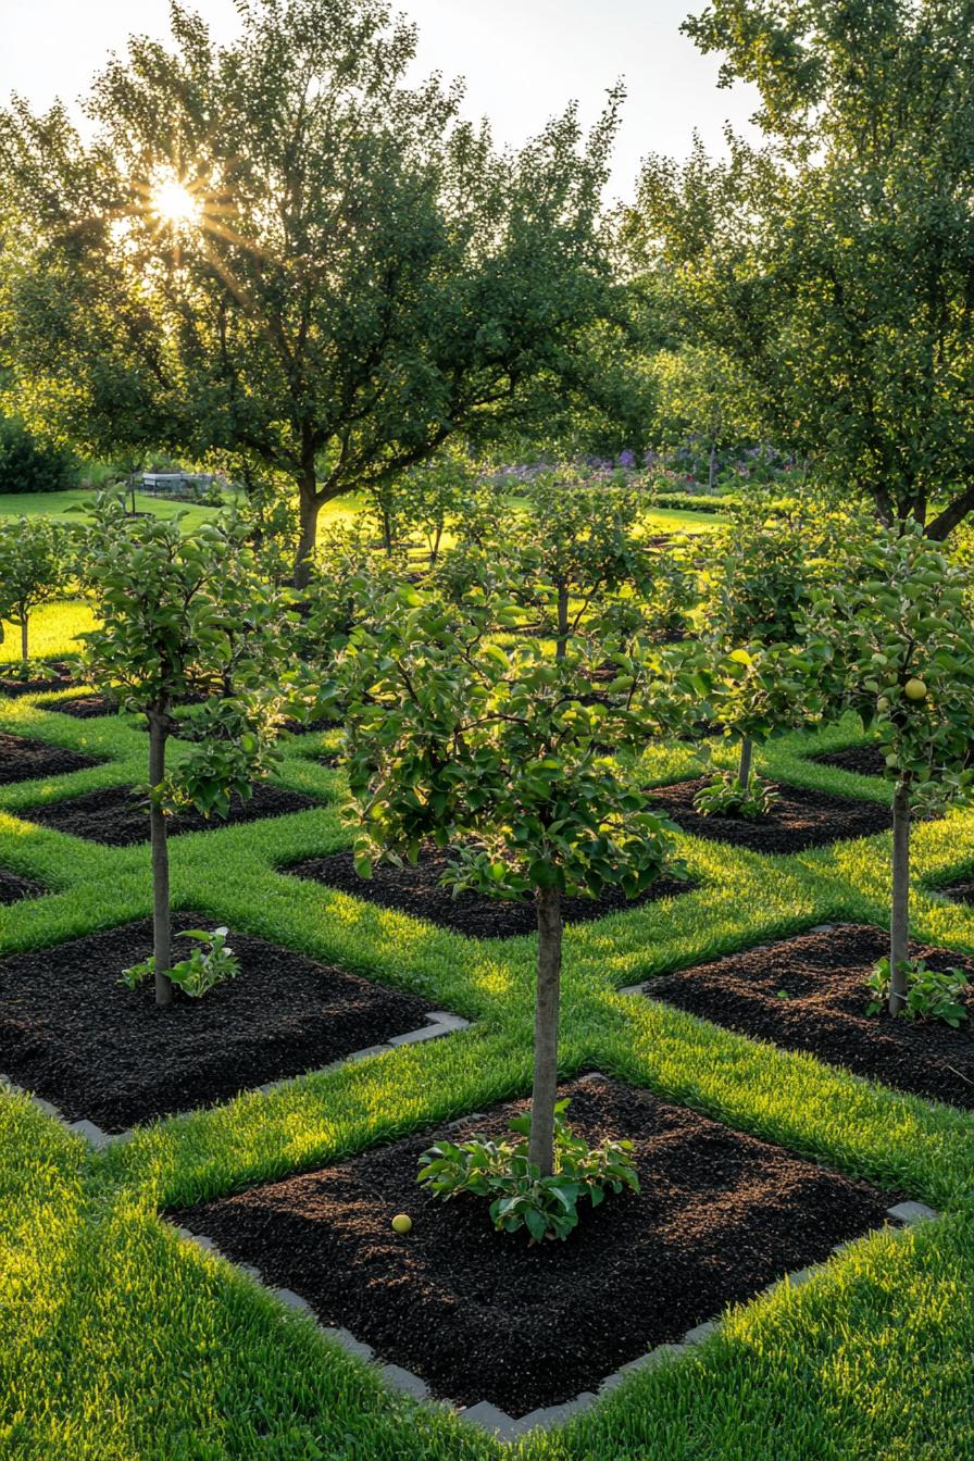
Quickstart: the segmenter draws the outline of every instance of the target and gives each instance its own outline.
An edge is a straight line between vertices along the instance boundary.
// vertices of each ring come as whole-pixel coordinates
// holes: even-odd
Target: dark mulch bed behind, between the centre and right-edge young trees
[[[694,796],[710,777],[654,786],[657,802],[683,831],[707,842],[726,842],[749,852],[791,853],[808,847],[822,847],[840,837],[870,837],[892,827],[892,812],[879,802],[829,796],[805,786],[784,786],[772,782],[778,801],[767,817],[749,821],[746,817],[702,817],[694,809]]]

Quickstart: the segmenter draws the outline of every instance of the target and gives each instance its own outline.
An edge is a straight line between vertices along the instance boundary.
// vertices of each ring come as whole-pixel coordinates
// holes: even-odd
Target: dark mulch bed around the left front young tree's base
[[[174,926],[213,928],[180,913]],[[152,922],[129,923],[0,960],[3,1071],[69,1121],[105,1131],[317,1069],[418,1030],[431,1008],[304,954],[231,932],[241,973],[202,999],[177,989],[169,1010],[152,980],[118,983],[152,954]],[[174,939],[174,957],[190,953]]]

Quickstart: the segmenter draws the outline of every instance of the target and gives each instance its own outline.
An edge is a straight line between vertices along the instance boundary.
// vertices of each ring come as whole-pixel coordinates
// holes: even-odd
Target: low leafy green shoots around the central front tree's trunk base
[[[640,1191],[629,1153],[631,1141],[603,1141],[588,1147],[565,1124],[567,1100],[555,1106],[555,1170],[543,1178],[529,1160],[530,1116],[515,1116],[511,1131],[520,1141],[438,1141],[419,1159],[418,1182],[444,1199],[460,1192],[491,1199],[491,1220],[498,1232],[527,1229],[530,1240],[559,1237],[578,1226],[578,1202],[587,1197],[599,1207],[606,1188]]]

